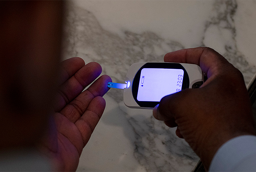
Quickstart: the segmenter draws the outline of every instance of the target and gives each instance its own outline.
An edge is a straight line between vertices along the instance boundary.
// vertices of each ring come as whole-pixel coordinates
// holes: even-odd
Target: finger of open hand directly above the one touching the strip
[[[102,72],[101,66],[91,62],[79,69],[72,77],[64,82],[57,92],[55,111],[60,111],[65,105],[76,98],[85,87],[92,83]]]

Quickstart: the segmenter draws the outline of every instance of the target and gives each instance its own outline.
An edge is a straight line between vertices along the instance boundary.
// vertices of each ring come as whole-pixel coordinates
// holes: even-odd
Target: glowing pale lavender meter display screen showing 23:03
[[[183,69],[143,68],[138,85],[138,101],[160,101],[182,90]]]

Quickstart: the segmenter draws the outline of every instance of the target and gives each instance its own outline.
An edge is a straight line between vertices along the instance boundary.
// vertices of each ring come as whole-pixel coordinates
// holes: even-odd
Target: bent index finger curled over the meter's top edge
[[[167,53],[164,62],[197,64],[208,78],[220,72],[223,65],[230,64],[221,54],[208,47],[180,49]]]

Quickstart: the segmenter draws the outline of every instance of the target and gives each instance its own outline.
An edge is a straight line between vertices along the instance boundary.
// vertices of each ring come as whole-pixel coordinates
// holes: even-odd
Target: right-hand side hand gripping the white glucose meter
[[[176,127],[206,169],[218,148],[240,135],[254,135],[250,99],[238,69],[213,49],[198,47],[167,53],[165,62],[193,63],[208,79],[198,89],[168,95],[153,110],[158,120]]]

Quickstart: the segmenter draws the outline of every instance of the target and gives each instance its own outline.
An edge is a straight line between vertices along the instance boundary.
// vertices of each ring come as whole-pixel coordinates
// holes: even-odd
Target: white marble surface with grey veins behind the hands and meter
[[[68,2],[64,58],[96,61],[123,83],[136,62],[162,62],[181,48],[208,46],[240,69],[256,73],[256,1],[93,0]],[[110,89],[106,109],[77,171],[192,171],[199,158],[152,117],[129,109],[123,90]]]

